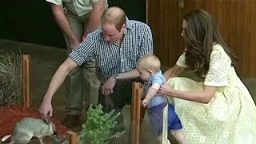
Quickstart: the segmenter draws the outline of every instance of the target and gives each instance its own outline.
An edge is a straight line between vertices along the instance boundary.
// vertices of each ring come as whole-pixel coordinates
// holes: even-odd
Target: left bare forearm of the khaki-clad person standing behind
[[[61,28],[64,34],[66,34],[66,37],[70,40],[71,48],[78,46],[79,40],[70,28],[70,24],[66,19],[62,5],[50,4],[50,6],[54,14],[55,21],[58,23],[58,26]]]

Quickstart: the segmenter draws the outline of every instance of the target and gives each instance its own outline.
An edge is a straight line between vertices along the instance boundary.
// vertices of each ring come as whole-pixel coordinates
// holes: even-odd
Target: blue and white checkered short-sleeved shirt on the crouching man
[[[153,38],[150,26],[126,18],[126,30],[121,44],[109,44],[102,30],[87,35],[86,41],[72,50],[70,58],[78,65],[96,59],[96,74],[102,83],[115,74],[136,68],[138,58],[153,53]]]

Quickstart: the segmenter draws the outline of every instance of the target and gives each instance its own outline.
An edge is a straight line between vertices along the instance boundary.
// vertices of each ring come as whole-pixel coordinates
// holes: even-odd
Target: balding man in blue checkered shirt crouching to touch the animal
[[[139,78],[136,62],[145,54],[153,53],[153,38],[145,23],[129,20],[118,7],[102,14],[102,29],[87,34],[86,41],[70,53],[59,66],[43,98],[39,111],[49,121],[53,110],[51,99],[66,75],[90,58],[96,59],[96,74],[101,82],[98,102],[104,110],[122,111],[131,102],[132,82]],[[122,115],[117,129],[124,128]],[[120,128],[120,129],[119,129]]]

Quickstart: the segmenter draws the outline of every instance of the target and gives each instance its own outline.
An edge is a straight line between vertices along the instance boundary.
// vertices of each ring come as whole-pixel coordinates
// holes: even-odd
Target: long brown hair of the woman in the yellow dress
[[[214,42],[223,46],[232,61],[237,60],[219,34],[218,26],[205,10],[193,10],[185,15],[186,29],[186,64],[195,70],[198,76],[205,75],[209,70],[210,53]]]

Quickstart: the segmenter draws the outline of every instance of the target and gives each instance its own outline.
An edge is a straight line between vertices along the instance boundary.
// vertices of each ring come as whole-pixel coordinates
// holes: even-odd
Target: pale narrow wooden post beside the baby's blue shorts
[[[168,144],[169,140],[167,139],[168,136],[168,103],[166,107],[162,111],[162,144]]]

